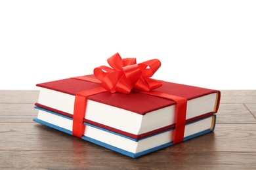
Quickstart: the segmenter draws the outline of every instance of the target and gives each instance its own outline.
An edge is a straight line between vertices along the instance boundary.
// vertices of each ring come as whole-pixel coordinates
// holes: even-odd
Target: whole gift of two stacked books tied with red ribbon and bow
[[[220,92],[150,78],[158,59],[108,59],[94,75],[37,84],[35,122],[137,158],[214,130]]]

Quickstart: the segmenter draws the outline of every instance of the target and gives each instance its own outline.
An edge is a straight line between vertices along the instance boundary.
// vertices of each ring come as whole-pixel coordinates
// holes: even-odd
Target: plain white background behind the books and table
[[[256,89],[256,1],[1,1],[0,90],[89,75],[119,52],[153,78]]]

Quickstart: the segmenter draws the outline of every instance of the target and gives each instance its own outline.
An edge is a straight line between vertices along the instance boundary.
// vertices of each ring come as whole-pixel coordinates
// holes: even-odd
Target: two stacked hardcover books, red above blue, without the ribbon
[[[183,141],[214,130],[221,97],[218,90],[161,82],[154,91],[188,100]],[[100,85],[66,78],[37,86],[41,88],[35,103],[38,116],[33,120],[72,135],[75,94]],[[132,158],[149,154],[173,144],[176,106],[170,99],[139,92],[90,95],[81,139]]]

